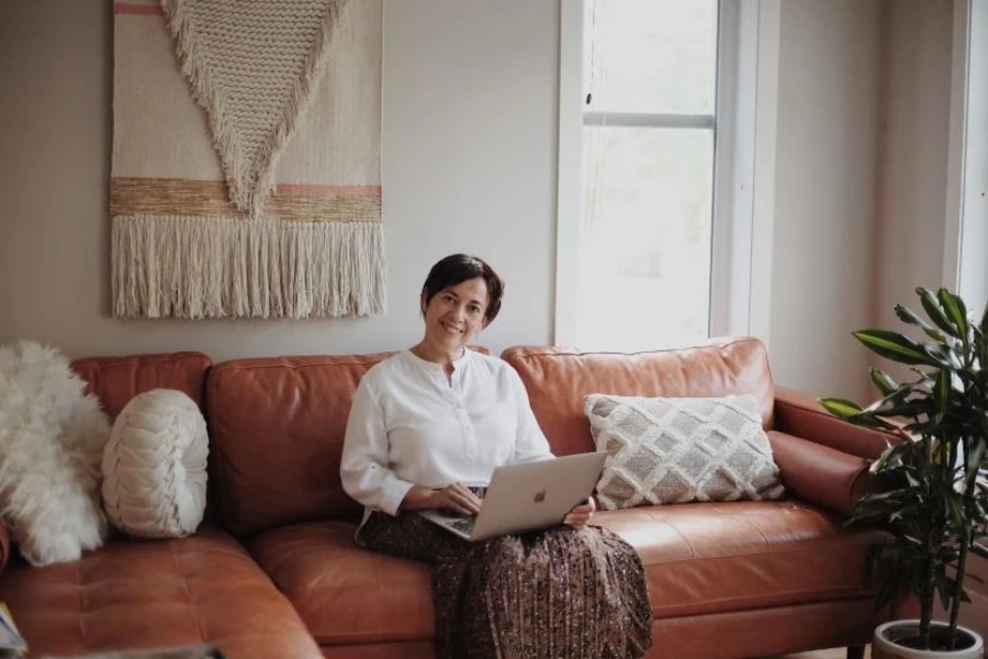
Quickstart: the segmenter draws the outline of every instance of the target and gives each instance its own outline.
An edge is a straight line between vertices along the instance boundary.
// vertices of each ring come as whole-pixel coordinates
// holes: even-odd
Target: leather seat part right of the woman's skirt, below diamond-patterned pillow
[[[684,503],[594,515],[638,551],[656,618],[867,596],[876,530],[797,501]]]

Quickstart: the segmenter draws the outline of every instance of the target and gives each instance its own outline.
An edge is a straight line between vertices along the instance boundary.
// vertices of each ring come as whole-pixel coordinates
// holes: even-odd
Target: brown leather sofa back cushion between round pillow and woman
[[[237,359],[210,371],[211,477],[231,532],[359,515],[339,482],[347,415],[360,378],[390,355]]]

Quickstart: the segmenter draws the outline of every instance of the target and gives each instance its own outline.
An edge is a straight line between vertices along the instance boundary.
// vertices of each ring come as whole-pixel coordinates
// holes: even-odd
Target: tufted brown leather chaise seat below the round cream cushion
[[[228,534],[117,537],[82,559],[0,577],[33,656],[210,644],[227,657],[322,657],[284,595]]]

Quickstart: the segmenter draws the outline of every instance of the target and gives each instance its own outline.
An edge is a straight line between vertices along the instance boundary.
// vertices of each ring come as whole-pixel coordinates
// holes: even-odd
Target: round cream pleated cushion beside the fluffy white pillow
[[[121,530],[143,538],[195,532],[206,498],[209,437],[199,406],[181,391],[136,395],[103,448],[103,505]]]

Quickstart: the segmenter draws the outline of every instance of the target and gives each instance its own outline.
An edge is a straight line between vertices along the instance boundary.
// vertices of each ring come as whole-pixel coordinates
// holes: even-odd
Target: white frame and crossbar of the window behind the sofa
[[[774,206],[774,185],[760,186],[755,196],[756,146],[768,146],[774,170],[775,116],[771,130],[764,130],[766,112],[756,112],[759,103],[774,110],[774,85],[762,80],[759,64],[773,47],[777,71],[779,0],[719,0],[717,29],[716,105],[714,115],[602,113],[583,111],[583,40],[585,2],[561,0],[559,58],[559,160],[557,179],[555,313],[553,343],[575,345],[577,319],[580,227],[582,217],[583,127],[596,122],[607,125],[647,125],[654,127],[714,130],[714,198],[710,241],[708,335],[751,334],[761,328],[767,334],[767,303],[752,309],[756,289],[771,286],[771,220],[756,222],[759,214]],[[768,5],[767,8],[764,5]],[[767,10],[767,11],[766,11]],[[773,23],[774,19],[774,23]],[[762,30],[760,31],[760,26]],[[765,27],[767,26],[767,30]],[[774,27],[774,34],[773,34]],[[760,34],[761,32],[761,34]],[[766,41],[767,35],[767,41]],[[773,41],[774,37],[774,41]],[[772,69],[768,69],[772,82]],[[586,119],[590,119],[587,122]],[[756,132],[762,129],[762,134]],[[759,145],[755,136],[759,136]],[[764,150],[764,149],[763,149]],[[763,167],[763,170],[765,168]],[[774,171],[773,171],[774,174]],[[767,179],[767,177],[762,177]],[[772,177],[774,179],[774,176]],[[765,183],[771,183],[766,180]],[[771,192],[770,197],[764,193]],[[757,225],[762,224],[756,239]],[[767,249],[766,268],[755,268],[756,257]],[[764,258],[761,259],[765,261]],[[771,293],[771,288],[767,291]],[[753,312],[759,317],[753,319]],[[767,337],[766,337],[767,339]],[[661,346],[656,346],[661,347]]]

